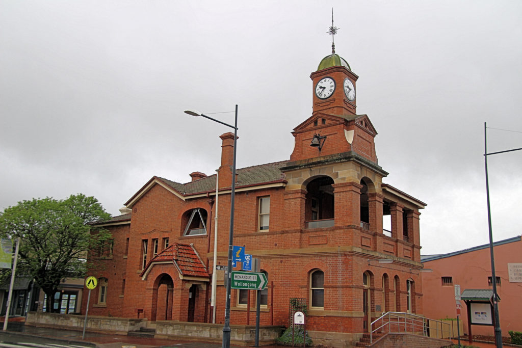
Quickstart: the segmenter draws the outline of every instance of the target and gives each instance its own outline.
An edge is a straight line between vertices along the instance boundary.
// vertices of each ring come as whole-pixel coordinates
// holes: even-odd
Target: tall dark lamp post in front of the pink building
[[[522,148],[488,153],[488,146],[487,146],[487,140],[486,140],[486,134],[487,134],[486,129],[487,129],[486,123],[484,122],[484,163],[485,163],[485,170],[486,170],[486,197],[488,200],[488,227],[489,227],[489,237],[490,237],[491,283],[493,284],[493,310],[495,312],[494,313],[494,316],[495,316],[495,344],[496,344],[497,348],[502,348],[502,330],[500,329],[499,305],[498,305],[499,294],[497,294],[497,292],[496,292],[495,257],[493,255],[493,231],[491,228],[491,209],[490,209],[489,181],[488,181],[488,156],[492,155],[492,154],[497,154],[497,153],[522,150]]]

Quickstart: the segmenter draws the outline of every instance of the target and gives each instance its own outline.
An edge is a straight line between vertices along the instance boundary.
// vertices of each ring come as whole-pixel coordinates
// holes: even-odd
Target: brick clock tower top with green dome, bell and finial
[[[332,26],[329,33],[335,35]],[[335,53],[332,40],[331,54],[319,63],[312,79],[312,116],[292,134],[295,145],[290,161],[339,161],[341,158],[363,159],[377,168],[374,138],[377,131],[367,115],[358,115],[355,75],[348,62]],[[326,161],[326,162],[325,162]],[[378,170],[380,167],[378,167]]]

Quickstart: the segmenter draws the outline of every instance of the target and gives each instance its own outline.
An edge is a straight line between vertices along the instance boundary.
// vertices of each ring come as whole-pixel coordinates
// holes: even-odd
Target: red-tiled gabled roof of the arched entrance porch
[[[156,264],[171,263],[177,269],[180,279],[190,277],[208,279],[207,268],[192,245],[174,243],[153,257],[147,267],[141,272],[141,279],[146,279],[150,270]]]

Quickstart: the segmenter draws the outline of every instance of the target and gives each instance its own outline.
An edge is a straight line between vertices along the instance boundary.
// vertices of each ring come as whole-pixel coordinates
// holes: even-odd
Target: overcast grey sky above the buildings
[[[0,210],[83,193],[113,215],[152,176],[288,160],[310,74],[336,53],[384,183],[427,203],[421,254],[489,243],[488,153],[522,148],[519,1],[0,2]],[[233,113],[213,115],[233,123]],[[522,233],[522,151],[488,156],[493,239]]]

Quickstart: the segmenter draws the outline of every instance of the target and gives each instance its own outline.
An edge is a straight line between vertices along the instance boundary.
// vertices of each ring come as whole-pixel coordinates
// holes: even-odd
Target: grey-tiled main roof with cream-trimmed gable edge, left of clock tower
[[[237,169],[236,174],[238,175],[238,181],[236,182],[236,189],[247,186],[284,182],[286,176],[279,170],[279,167],[287,162],[288,161],[272,162]],[[180,184],[159,176],[153,176],[147,184],[141,187],[141,189],[125,203],[125,206],[131,208],[134,203],[143,197],[143,195],[145,195],[154,185],[160,185],[169,190],[176,197],[185,200],[190,198],[190,196],[213,193],[216,190],[216,174],[186,184]]]

